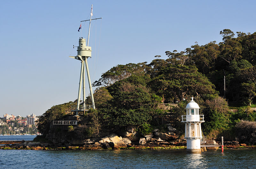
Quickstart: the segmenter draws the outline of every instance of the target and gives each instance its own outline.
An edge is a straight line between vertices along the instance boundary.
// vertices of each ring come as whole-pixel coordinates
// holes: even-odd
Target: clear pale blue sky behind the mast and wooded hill
[[[0,1],[0,116],[42,115],[77,99],[79,37],[87,39],[91,81],[118,64],[222,41],[220,31],[256,32],[256,1]],[[87,82],[86,82],[87,83]],[[87,94],[89,90],[87,87]]]

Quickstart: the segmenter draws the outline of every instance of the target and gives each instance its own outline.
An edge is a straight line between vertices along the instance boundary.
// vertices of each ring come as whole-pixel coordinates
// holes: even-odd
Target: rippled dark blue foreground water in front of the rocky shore
[[[17,136],[18,137],[18,136]],[[255,168],[256,149],[0,150],[0,168]]]

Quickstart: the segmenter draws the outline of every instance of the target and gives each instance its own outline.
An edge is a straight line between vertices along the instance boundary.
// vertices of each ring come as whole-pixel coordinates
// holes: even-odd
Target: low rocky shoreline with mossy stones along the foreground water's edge
[[[109,140],[106,142],[102,142],[102,144],[98,144],[98,142],[94,144],[84,144],[84,145],[53,145],[47,143],[40,143],[35,141],[25,141],[23,143],[17,144],[5,144],[1,145],[0,149],[3,150],[184,150],[186,149],[186,142],[172,142],[169,144],[172,145],[164,145],[164,144],[144,144],[144,145],[130,145],[130,144],[120,144],[120,140],[118,136],[115,134],[112,135],[111,139],[109,137],[105,137],[102,140]],[[115,140],[115,139],[116,140]],[[112,144],[112,143],[114,144]],[[210,141],[212,142],[212,141]],[[214,141],[215,142],[215,141]],[[181,145],[182,144],[182,145]],[[225,141],[224,142],[225,149],[238,149],[238,148],[247,148],[247,149],[256,149],[256,145],[246,145],[239,144],[237,141]],[[207,150],[217,150],[218,147],[201,147],[202,151]]]

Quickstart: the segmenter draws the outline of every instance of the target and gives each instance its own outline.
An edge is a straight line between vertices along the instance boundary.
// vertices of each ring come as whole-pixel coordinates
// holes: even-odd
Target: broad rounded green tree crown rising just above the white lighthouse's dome
[[[149,82],[156,94],[167,101],[181,101],[185,95],[216,94],[214,85],[193,66],[168,65]]]

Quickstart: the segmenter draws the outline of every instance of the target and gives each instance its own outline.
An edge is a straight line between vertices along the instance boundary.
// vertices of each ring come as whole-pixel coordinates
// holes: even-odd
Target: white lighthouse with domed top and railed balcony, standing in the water
[[[187,139],[187,152],[201,152],[200,139],[202,138],[201,123],[204,122],[204,115],[199,115],[199,106],[191,97],[187,104],[187,115],[182,115],[182,123],[185,123],[185,137]]]

